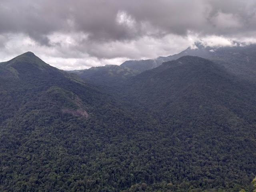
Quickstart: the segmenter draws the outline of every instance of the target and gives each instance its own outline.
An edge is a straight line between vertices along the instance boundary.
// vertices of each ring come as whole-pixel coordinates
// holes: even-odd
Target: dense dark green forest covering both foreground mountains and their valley
[[[184,56],[109,91],[31,52],[0,63],[0,191],[252,189],[253,81]]]

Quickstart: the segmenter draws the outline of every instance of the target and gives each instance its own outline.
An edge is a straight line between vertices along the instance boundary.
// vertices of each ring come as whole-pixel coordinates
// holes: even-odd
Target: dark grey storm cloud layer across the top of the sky
[[[152,28],[159,31],[151,35],[242,35],[256,29],[255,8],[250,0],[4,0],[0,32],[24,32],[42,44],[48,44],[46,35],[62,30],[98,41],[130,40]],[[118,12],[130,16],[133,26],[118,23]]]

